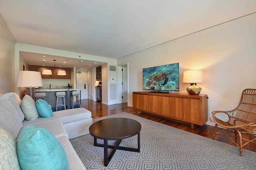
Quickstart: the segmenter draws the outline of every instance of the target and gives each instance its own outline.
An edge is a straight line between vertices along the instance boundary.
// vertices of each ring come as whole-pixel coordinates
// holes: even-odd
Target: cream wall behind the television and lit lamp
[[[201,69],[204,82],[197,85],[208,94],[210,116],[214,110],[234,109],[242,90],[256,88],[256,14],[117,60],[118,65],[128,62],[128,106],[132,92],[142,91],[142,68],[179,63],[179,93],[187,93],[190,85],[182,82],[183,72]]]

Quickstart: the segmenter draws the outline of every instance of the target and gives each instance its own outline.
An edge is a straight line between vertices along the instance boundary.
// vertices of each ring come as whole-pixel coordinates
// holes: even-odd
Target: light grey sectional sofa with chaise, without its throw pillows
[[[29,129],[26,127],[36,127],[43,129],[43,131],[47,131],[47,133],[49,132],[48,135],[53,135],[53,137],[51,136],[52,140],[60,143],[64,149],[64,154],[66,154],[66,160],[70,170],[86,170],[84,164],[72,147],[69,139],[89,133],[89,127],[92,124],[92,113],[84,108],[75,108],[54,111],[52,112],[52,117],[43,118],[39,116],[37,119],[26,121],[22,111],[23,109],[21,109],[22,100],[20,100],[16,93],[12,92],[0,96],[0,132],[1,135],[5,135],[4,137],[1,136],[2,139],[0,142],[0,151],[2,152],[0,153],[0,166],[5,166],[6,168],[7,165],[9,166],[10,162],[16,162],[17,164],[17,162],[20,161],[20,157],[18,160],[18,156],[16,154],[18,139],[21,138],[20,133],[23,133],[23,130],[25,129]],[[26,137],[23,140],[26,140]],[[14,147],[12,145],[11,147],[8,146],[9,149],[14,149],[14,155],[10,154],[10,151],[5,150],[5,148],[8,148],[6,146],[12,143],[10,141],[14,141],[12,144]],[[51,146],[53,147],[52,149],[55,149],[54,154],[58,154],[58,150],[56,151],[56,146]],[[4,161],[7,161],[7,165]],[[18,165],[20,166],[20,162]],[[10,165],[10,167],[11,166],[12,165]],[[19,167],[16,167],[16,169],[19,169]]]

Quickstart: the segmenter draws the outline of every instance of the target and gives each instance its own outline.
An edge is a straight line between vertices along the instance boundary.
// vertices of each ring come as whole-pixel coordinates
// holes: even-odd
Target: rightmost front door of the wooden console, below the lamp
[[[202,121],[200,99],[183,99],[183,119],[197,123]]]

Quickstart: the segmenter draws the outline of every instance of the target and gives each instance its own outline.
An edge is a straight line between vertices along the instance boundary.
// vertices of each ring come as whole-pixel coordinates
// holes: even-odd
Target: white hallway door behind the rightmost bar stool
[[[76,88],[81,89],[81,99],[88,99],[87,70],[76,72]]]

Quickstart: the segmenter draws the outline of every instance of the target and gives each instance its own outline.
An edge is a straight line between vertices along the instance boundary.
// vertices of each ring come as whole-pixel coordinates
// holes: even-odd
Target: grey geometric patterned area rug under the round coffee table
[[[256,152],[243,149],[243,156],[240,156],[238,147],[136,115],[123,112],[93,119],[93,122],[112,117],[126,117],[141,123],[140,152],[116,150],[105,167],[103,148],[94,147],[90,134],[70,139],[87,170],[256,169]],[[98,143],[103,141],[98,139]],[[137,135],[122,140],[120,146],[137,148]]]

